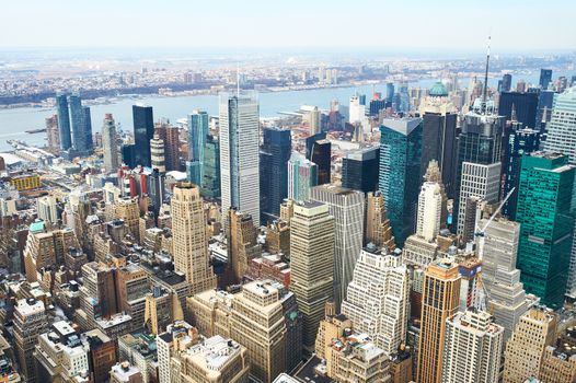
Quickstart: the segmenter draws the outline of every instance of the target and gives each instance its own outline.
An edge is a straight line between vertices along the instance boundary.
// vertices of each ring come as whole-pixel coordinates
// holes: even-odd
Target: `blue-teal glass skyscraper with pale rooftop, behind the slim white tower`
[[[384,118],[380,127],[379,188],[396,244],[414,232],[422,183],[422,118]]]

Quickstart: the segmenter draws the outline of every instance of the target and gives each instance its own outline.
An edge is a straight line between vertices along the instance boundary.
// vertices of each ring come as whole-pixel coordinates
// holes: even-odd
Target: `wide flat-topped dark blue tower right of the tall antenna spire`
[[[506,116],[507,120],[512,119],[522,123],[525,128],[534,128],[537,125],[538,92],[503,92],[498,102],[498,114]]]

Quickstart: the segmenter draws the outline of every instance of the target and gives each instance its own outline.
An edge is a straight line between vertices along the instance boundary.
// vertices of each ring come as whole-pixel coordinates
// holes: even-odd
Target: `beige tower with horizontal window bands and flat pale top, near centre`
[[[334,290],[334,218],[327,205],[304,201],[290,219],[290,290],[302,313],[304,347],[313,348],[324,305]]]

